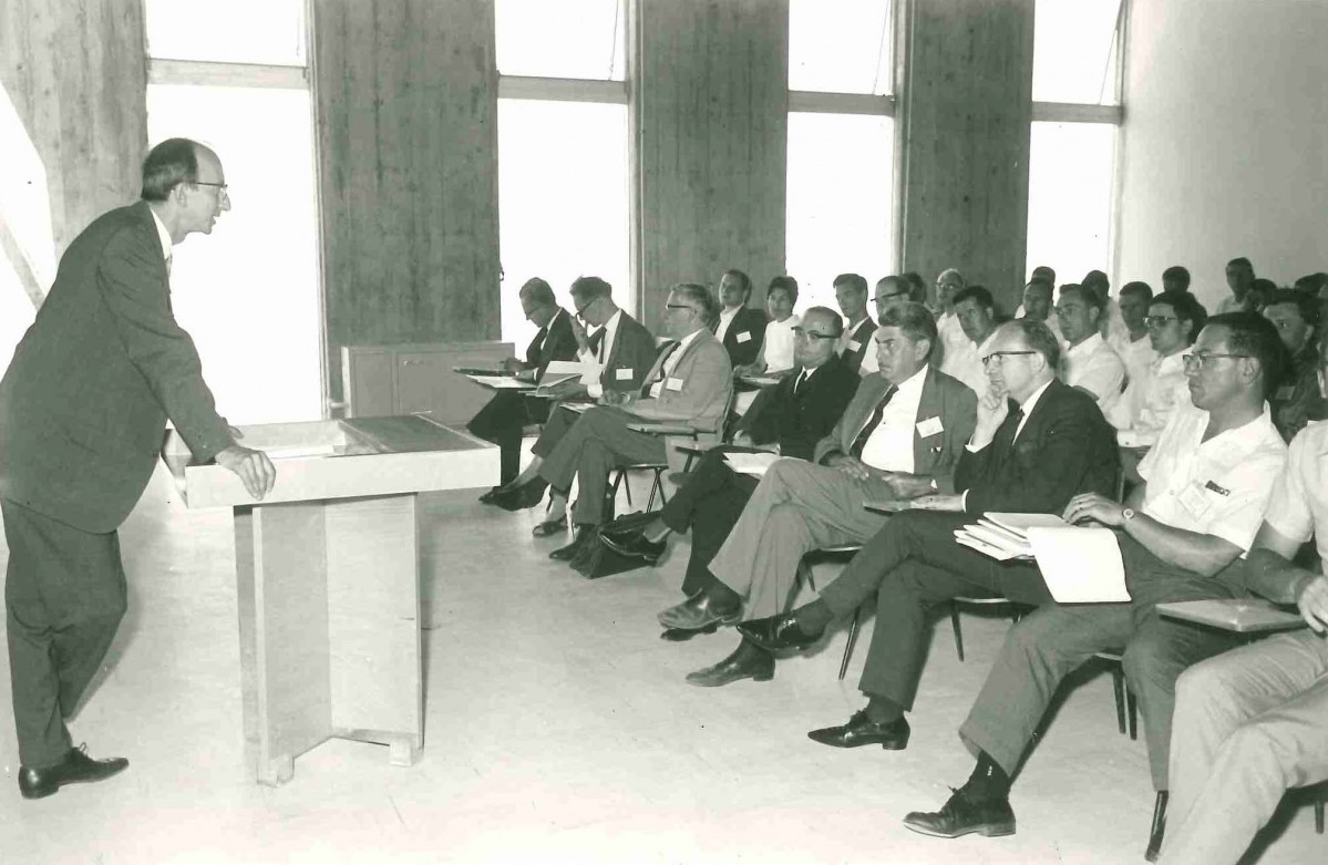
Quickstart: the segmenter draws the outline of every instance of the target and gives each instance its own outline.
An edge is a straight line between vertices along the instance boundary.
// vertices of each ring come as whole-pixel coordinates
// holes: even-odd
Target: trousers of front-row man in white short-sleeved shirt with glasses
[[[1193,573],[1166,565],[1129,538],[1121,539],[1127,578],[1161,577],[1151,586],[1130,586],[1133,603],[1048,605],[1011,628],[959,735],[985,751],[1013,775],[1033,740],[1061,679],[1096,652],[1125,647],[1121,666],[1139,702],[1149,747],[1153,788],[1167,789],[1171,710],[1175,680],[1191,664],[1235,644],[1222,631],[1163,619],[1154,605],[1166,598],[1166,575],[1178,582],[1177,599],[1230,597],[1218,579],[1195,581]],[[1147,602],[1143,602],[1147,599]]]

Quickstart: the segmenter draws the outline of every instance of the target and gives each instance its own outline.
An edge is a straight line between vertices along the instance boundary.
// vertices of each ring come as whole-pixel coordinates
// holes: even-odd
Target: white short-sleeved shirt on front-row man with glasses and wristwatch
[[[1267,405],[1250,423],[1203,441],[1207,428],[1206,411],[1194,405],[1175,411],[1139,462],[1139,477],[1147,481],[1143,513],[1247,551],[1287,462],[1287,445]]]

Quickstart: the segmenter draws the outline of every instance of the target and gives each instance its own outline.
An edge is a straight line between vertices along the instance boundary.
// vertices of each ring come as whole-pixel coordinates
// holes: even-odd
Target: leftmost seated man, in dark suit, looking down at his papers
[[[535,381],[544,373],[552,360],[574,360],[576,357],[576,337],[572,336],[571,316],[558,306],[554,290],[538,276],[527,279],[518,294],[521,311],[526,320],[539,328],[535,339],[526,347],[526,360],[510,357],[503,361],[503,369],[521,371],[521,375]],[[526,424],[543,424],[548,420],[546,400],[526,399],[519,391],[498,391],[487,405],[470,419],[466,429],[473,436],[491,441],[501,452],[498,486],[479,497],[489,504],[502,486],[510,484],[521,470],[521,429]]]

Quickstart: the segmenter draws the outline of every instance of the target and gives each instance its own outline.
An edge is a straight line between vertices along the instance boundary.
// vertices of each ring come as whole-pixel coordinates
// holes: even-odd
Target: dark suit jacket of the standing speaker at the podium
[[[165,252],[138,202],[74,238],[15,349],[0,381],[0,496],[113,531],[147,485],[167,417],[198,460],[232,442],[171,315]]]

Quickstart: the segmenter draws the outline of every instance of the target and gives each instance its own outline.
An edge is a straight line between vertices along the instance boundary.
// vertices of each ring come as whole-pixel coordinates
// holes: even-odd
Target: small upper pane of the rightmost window
[[[1037,0],[1033,101],[1120,105],[1122,0]]]

